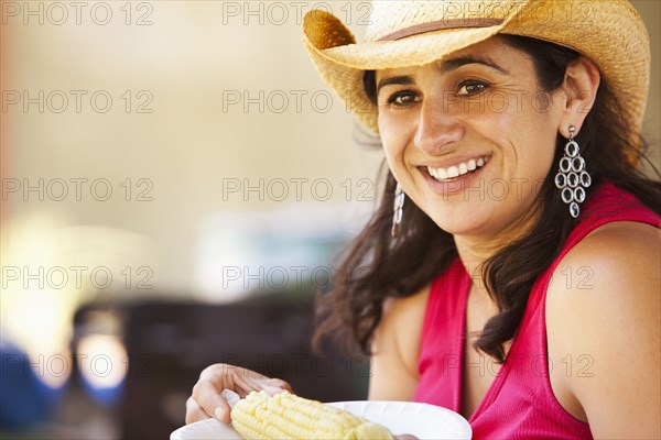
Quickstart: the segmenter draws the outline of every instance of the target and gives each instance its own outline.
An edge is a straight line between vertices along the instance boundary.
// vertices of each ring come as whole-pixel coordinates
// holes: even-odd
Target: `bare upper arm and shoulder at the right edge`
[[[642,223],[598,228],[563,258],[549,289],[549,352],[562,371],[553,388],[595,438],[661,438],[660,239]],[[577,283],[578,270],[589,279]],[[568,289],[563,271],[575,277]],[[581,371],[578,356],[588,361]]]

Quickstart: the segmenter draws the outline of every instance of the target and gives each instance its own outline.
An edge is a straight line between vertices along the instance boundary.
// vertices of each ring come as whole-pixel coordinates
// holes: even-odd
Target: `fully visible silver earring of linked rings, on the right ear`
[[[585,170],[585,160],[581,157],[578,144],[574,141],[576,128],[570,125],[568,130],[570,141],[560,160],[555,186],[560,189],[562,201],[570,206],[570,215],[577,218],[581,213],[578,204],[585,201],[585,189],[592,185],[592,177]]]

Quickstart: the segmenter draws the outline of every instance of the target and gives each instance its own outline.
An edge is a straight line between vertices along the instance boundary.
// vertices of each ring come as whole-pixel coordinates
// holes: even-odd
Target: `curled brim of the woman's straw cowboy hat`
[[[592,14],[570,20],[565,8],[571,2],[543,3],[551,8],[543,20],[533,9],[537,3],[524,2],[497,24],[451,25],[364,43],[356,43],[350,30],[332,13],[313,10],[303,20],[303,42],[324,81],[375,133],[377,107],[365,94],[365,70],[425,65],[499,33],[545,40],[593,59],[614,91],[621,118],[639,131],[649,88],[650,47],[636,10],[626,0],[593,0],[582,2],[594,7]]]

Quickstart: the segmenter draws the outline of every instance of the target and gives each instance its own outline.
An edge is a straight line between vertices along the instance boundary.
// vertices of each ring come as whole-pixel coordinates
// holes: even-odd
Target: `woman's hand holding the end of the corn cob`
[[[230,389],[241,397],[252,391],[264,391],[274,395],[292,387],[279,378],[269,378],[253,371],[228,364],[214,364],[203,370],[193,387],[193,395],[186,400],[186,425],[208,418],[217,418],[228,424],[230,408],[220,396],[223,389]]]

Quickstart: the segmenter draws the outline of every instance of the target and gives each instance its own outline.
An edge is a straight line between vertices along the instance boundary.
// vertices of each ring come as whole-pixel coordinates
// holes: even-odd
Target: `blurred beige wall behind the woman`
[[[375,177],[380,153],[356,146],[351,117],[335,97],[325,101],[329,95],[302,47],[299,26],[300,13],[314,3],[84,2],[76,16],[68,2],[2,2],[3,186],[9,191],[44,179],[43,201],[39,191],[24,195],[23,188],[7,194],[2,264],[130,266],[133,285],[141,275],[137,268],[149,267],[154,289],[138,294],[187,294],[199,288],[196,246],[210,215],[288,205],[305,216],[346,207],[347,198],[369,207],[357,200],[366,188],[359,179]],[[357,34],[364,32],[365,2],[327,3]],[[652,41],[646,130],[658,146],[660,3],[633,4]],[[43,113],[39,102],[24,111],[23,92],[39,101],[40,90]],[[264,94],[263,112],[258,103],[248,111],[241,105],[224,109],[228,97],[242,100],[245,92],[258,101]],[[112,103],[102,112],[107,96]],[[262,201],[257,193],[223,196],[224,185],[236,183],[228,179],[258,185],[260,178],[284,179],[290,196],[284,201],[269,200],[268,194]],[[292,179],[299,178],[328,179],[333,196],[319,201],[306,184],[296,200]],[[97,200],[108,185],[112,195]],[[21,286],[12,286],[9,290],[25,297]],[[50,298],[68,314],[86,295],[98,295],[89,292],[58,290]],[[29,302],[20,304],[23,308],[12,306],[19,315],[30,310]]]

